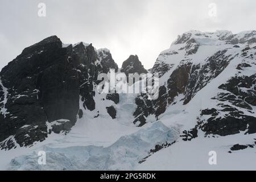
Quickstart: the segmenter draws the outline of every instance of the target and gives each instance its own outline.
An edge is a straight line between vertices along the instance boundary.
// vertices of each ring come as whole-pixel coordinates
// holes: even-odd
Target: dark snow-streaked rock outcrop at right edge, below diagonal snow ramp
[[[250,77],[236,76],[230,78],[226,84],[219,86],[220,89],[226,90],[228,93],[218,93],[216,97],[212,98],[220,101],[218,106],[221,109],[201,111],[201,115],[212,115],[201,125],[205,134],[226,136],[240,133],[240,131],[246,131],[245,134],[256,133],[256,117],[237,109],[246,109],[249,113],[253,113],[251,105],[254,105],[256,100],[255,78],[255,74]],[[246,90],[242,88],[246,88]],[[229,104],[226,104],[227,102]]]

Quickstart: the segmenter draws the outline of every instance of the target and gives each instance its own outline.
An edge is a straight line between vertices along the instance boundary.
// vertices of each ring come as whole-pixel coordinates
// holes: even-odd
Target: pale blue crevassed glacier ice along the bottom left
[[[47,147],[47,164],[37,164],[37,152],[22,155],[10,163],[11,170],[127,170],[134,169],[138,161],[150,154],[156,145],[168,144],[175,141],[177,134],[174,130],[156,122],[134,134],[124,135],[109,147],[102,146],[72,146]]]

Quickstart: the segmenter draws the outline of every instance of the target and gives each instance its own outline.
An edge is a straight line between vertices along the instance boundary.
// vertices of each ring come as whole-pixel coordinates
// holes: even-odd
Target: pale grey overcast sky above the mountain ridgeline
[[[46,4],[46,17],[38,4]],[[216,3],[216,17],[209,4]],[[121,67],[137,54],[145,68],[189,30],[256,30],[255,0],[0,0],[0,69],[51,35],[110,49]]]

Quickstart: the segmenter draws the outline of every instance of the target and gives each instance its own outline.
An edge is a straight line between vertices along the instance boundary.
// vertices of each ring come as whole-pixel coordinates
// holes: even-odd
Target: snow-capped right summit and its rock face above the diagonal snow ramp
[[[238,64],[247,67],[245,64],[249,61],[248,69],[253,75],[254,67],[251,66],[255,63],[255,36],[255,31],[245,31],[237,35],[229,31],[189,31],[178,36],[169,49],[160,53],[151,69],[152,73],[160,75],[158,100],[143,104],[147,98],[140,96],[134,122],[143,125],[148,115],[154,114],[158,118],[171,104],[180,101],[187,104],[234,59],[237,60],[233,61],[236,67]],[[232,71],[238,70],[232,68]],[[229,78],[232,76],[234,75]],[[219,84],[225,81],[227,80],[220,80]]]

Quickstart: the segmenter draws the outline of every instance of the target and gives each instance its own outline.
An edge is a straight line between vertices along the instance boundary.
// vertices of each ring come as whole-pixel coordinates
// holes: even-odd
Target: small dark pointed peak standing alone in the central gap
[[[138,73],[141,75],[141,73],[147,73],[147,70],[144,69],[137,55],[130,55],[130,57],[123,62],[121,72],[128,76],[129,73]]]

